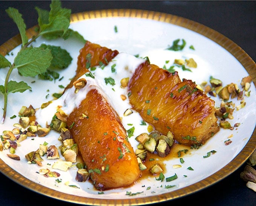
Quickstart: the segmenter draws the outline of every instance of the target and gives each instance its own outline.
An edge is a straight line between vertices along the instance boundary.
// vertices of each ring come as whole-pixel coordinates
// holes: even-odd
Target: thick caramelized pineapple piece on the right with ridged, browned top
[[[171,131],[181,144],[204,144],[219,126],[214,101],[178,73],[141,64],[128,87],[133,109],[162,134]]]

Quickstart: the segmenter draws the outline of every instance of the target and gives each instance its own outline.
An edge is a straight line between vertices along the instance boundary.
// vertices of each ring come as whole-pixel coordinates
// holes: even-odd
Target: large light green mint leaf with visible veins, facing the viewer
[[[15,67],[23,76],[34,77],[50,67],[52,61],[51,51],[43,48],[25,48],[14,59]]]

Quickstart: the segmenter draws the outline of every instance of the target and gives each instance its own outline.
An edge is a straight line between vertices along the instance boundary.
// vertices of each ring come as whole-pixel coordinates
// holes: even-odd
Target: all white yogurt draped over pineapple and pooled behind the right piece
[[[207,72],[209,71],[209,65],[191,53],[158,49],[145,51],[144,53],[140,54],[140,56],[142,58],[136,58],[135,56],[127,53],[119,53],[109,62],[108,65],[104,67],[98,66],[94,70],[91,69],[90,72],[91,76],[93,77],[89,76],[89,73],[86,73],[80,77],[87,80],[87,84],[84,88],[79,89],[77,93],[75,93],[74,87],[67,89],[60,98],[53,100],[49,106],[44,109],[39,109],[36,112],[38,123],[41,126],[50,124],[52,117],[59,106],[61,106],[61,109],[67,115],[69,115],[76,107],[80,105],[81,101],[86,97],[88,91],[96,88],[117,112],[125,129],[134,130],[133,135],[138,136],[143,132],[148,132],[148,124],[143,122],[144,124],[142,125],[142,117],[140,117],[139,113],[136,111],[133,111],[133,113],[128,116],[123,115],[127,109],[131,109],[131,105],[128,99],[127,87],[121,88],[120,81],[123,78],[131,78],[136,68],[145,62],[145,59],[143,58],[147,56],[151,64],[156,64],[160,68],[169,68],[173,64],[174,59],[192,57],[197,61],[199,67],[193,69],[192,72],[182,71],[179,67],[175,67],[175,70],[178,71],[180,78],[192,79],[194,81],[197,80],[196,83],[200,84],[203,80],[208,79],[210,75]],[[106,79],[112,79],[112,84],[106,82]],[[126,99],[123,100],[121,95],[125,95]]]

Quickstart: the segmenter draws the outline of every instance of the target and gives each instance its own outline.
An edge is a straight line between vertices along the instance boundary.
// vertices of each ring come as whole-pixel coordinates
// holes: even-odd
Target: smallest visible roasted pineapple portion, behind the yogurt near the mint
[[[73,86],[79,77],[89,71],[89,68],[101,65],[107,65],[116,55],[117,50],[111,50],[107,47],[101,47],[99,44],[87,41],[83,48],[79,51],[76,76],[70,81],[66,89]],[[65,89],[65,90],[66,90]]]

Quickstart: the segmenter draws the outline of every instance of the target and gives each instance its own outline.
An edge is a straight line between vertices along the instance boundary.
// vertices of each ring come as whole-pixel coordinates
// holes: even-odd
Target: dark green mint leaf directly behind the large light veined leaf
[[[51,50],[51,54],[52,54],[52,62],[50,65],[51,68],[64,69],[64,68],[67,68],[72,61],[72,57],[67,52],[67,50],[62,49],[61,47],[41,44],[40,48],[44,48],[44,49],[49,48]]]

